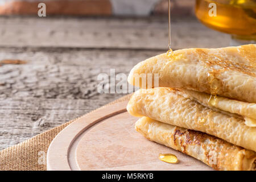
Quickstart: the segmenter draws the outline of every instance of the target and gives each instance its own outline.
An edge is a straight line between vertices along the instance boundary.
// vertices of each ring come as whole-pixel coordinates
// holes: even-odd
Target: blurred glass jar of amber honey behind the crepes
[[[232,35],[232,46],[256,43],[256,0],[196,0],[195,12],[206,26]]]

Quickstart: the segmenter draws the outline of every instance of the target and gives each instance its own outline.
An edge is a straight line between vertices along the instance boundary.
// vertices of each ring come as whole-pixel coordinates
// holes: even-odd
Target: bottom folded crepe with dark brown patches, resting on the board
[[[255,171],[256,154],[199,131],[143,117],[135,129],[147,139],[174,148],[217,170]]]

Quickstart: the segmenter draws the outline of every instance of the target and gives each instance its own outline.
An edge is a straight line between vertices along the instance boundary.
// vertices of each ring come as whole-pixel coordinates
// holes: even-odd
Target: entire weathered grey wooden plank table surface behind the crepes
[[[0,17],[0,150],[108,104],[100,73],[129,73],[166,51],[167,18]],[[174,49],[223,47],[229,36],[174,18]],[[7,63],[7,62],[4,62]]]

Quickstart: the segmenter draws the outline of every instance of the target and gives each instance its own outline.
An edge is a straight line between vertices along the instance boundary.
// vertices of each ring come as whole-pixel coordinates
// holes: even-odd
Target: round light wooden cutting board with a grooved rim
[[[55,139],[47,152],[48,170],[211,170],[206,164],[137,133],[138,118],[126,111],[127,100],[77,119]],[[172,153],[179,163],[158,159]]]

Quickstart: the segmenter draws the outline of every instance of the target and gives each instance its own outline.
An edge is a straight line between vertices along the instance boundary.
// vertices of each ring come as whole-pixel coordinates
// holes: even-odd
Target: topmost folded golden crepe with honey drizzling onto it
[[[139,80],[142,75],[155,74],[159,77],[157,84]],[[256,44],[181,49],[171,56],[163,53],[135,65],[128,82],[141,88],[184,88],[256,103]]]

